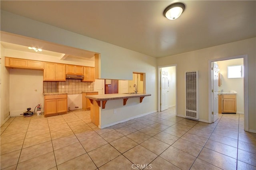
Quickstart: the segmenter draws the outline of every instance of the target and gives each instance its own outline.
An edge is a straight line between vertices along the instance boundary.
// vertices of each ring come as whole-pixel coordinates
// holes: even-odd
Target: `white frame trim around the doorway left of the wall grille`
[[[172,67],[172,66],[175,66],[175,71],[176,71],[176,90],[175,90],[175,93],[176,93],[176,109],[175,109],[175,115],[177,115],[177,110],[178,110],[178,90],[177,90],[177,75],[178,75],[178,68],[177,68],[177,64],[170,64],[170,65],[165,65],[165,66],[158,66],[157,67],[157,111],[159,112],[161,110],[161,106],[160,106],[160,102],[161,102],[161,90],[160,90],[160,87],[161,87],[161,68],[164,68],[164,67]]]

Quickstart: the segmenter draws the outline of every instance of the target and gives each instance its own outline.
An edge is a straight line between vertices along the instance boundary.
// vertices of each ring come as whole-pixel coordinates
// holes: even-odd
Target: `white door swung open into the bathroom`
[[[212,123],[218,119],[218,64],[212,62]]]

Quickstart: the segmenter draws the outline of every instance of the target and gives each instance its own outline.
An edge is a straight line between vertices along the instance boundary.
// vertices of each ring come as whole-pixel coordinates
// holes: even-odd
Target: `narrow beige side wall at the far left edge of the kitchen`
[[[4,53],[5,53],[5,49],[4,47],[1,45],[1,84],[0,84],[0,120],[1,120],[1,125],[4,123],[4,121],[6,120],[6,118],[8,118],[9,116],[9,70],[6,69],[6,67],[4,66]]]

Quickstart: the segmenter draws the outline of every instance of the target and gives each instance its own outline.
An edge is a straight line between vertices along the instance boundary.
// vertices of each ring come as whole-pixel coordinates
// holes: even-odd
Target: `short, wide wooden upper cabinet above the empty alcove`
[[[44,62],[27,59],[5,57],[5,66],[8,68],[22,68],[30,70],[43,70]]]

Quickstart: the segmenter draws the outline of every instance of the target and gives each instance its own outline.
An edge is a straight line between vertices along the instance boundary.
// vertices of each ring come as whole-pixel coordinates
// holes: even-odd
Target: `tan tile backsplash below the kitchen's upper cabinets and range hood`
[[[67,79],[66,82],[44,82],[44,92],[65,92],[68,94],[81,94],[93,91],[93,82]]]

